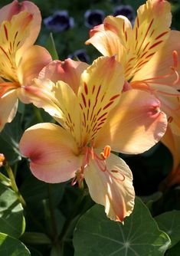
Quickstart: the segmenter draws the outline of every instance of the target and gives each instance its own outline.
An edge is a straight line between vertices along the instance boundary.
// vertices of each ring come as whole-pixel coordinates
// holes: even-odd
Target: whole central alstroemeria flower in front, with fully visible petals
[[[44,67],[31,101],[61,124],[39,123],[25,131],[20,150],[31,172],[44,182],[86,180],[92,199],[106,215],[123,221],[133,211],[133,177],[110,151],[142,153],[165,133],[167,121],[159,100],[136,90],[123,95],[123,69],[115,57],[87,64],[67,59]]]

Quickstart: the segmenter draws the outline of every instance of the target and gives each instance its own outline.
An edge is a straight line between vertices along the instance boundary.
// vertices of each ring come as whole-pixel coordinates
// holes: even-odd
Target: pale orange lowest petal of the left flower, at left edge
[[[10,90],[0,97],[0,130],[5,123],[11,123],[18,108],[18,97],[16,90]]]

